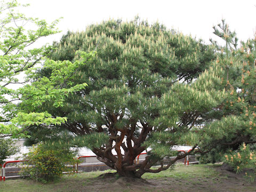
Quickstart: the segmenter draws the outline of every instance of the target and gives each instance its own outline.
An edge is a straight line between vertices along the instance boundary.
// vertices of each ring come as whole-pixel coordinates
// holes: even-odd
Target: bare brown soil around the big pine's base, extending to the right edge
[[[70,191],[256,191],[256,182],[248,182],[244,179],[244,174],[222,170],[221,167],[214,168],[218,172],[218,177],[205,179],[174,179],[170,177],[158,179],[135,179],[117,178],[117,175],[108,174],[106,177],[90,179],[81,186],[76,186]],[[69,190],[67,190],[69,191]]]

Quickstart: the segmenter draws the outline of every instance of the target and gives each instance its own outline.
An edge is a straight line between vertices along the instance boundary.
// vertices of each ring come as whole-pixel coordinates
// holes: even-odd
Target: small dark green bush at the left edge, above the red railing
[[[19,152],[19,147],[14,146],[12,139],[0,138],[0,164],[4,164],[4,159]]]

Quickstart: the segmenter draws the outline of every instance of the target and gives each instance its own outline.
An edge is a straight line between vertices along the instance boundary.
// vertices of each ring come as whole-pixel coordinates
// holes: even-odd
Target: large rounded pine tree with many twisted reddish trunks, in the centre
[[[159,23],[109,20],[80,33],[69,32],[55,46],[53,60],[72,62],[77,50],[96,50],[97,55],[74,73],[73,82],[86,82],[85,89],[69,95],[58,110],[51,102],[42,105],[42,111],[68,117],[60,126],[44,129],[74,133],[74,145],[89,147],[101,162],[121,175],[141,177],[145,172],[159,172],[186,156],[178,154],[167,166],[150,169],[163,157],[173,156],[173,145],[186,144],[182,138],[195,119],[210,110],[222,94],[189,85],[214,59],[211,47]],[[41,70],[39,76],[50,77],[50,73]],[[202,83],[204,87],[210,85]],[[41,128],[42,139],[46,132],[48,138],[54,136],[54,132],[42,132]],[[40,140],[37,129],[30,131]],[[153,148],[151,155],[134,164],[147,147]]]

